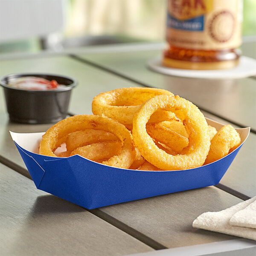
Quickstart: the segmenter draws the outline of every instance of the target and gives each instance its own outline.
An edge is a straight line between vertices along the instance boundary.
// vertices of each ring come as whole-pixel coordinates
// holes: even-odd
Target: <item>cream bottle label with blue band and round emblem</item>
[[[186,49],[241,44],[241,0],[168,0],[167,41]]]

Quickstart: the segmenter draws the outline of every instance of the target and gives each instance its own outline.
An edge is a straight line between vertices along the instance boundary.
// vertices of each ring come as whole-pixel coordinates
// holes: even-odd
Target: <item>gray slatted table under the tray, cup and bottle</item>
[[[256,48],[253,42],[243,44]],[[9,130],[52,124],[9,122],[0,90],[1,255],[254,255],[256,242],[192,228],[198,215],[256,195],[256,79],[187,79],[148,70],[163,44],[79,49],[62,55],[5,57],[0,76],[56,73],[76,78],[69,114],[90,114],[97,94],[120,87],[160,87],[189,99],[205,116],[252,132],[217,186],[87,210],[36,189]],[[241,254],[242,253],[242,254]],[[136,254],[137,255],[137,254]]]

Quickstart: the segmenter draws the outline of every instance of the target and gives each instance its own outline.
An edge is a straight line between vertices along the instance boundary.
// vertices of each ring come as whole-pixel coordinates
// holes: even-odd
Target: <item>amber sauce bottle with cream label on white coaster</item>
[[[211,70],[239,63],[242,0],[168,0],[163,65]]]

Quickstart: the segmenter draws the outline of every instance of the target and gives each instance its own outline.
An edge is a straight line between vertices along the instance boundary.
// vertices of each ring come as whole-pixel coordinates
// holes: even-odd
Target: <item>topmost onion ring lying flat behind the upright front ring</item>
[[[93,99],[93,114],[108,116],[124,125],[131,125],[135,113],[146,100],[161,94],[173,95],[171,92],[157,88],[131,87],[100,93]],[[175,115],[169,111],[157,111],[151,116],[149,123],[157,123],[173,119]]]

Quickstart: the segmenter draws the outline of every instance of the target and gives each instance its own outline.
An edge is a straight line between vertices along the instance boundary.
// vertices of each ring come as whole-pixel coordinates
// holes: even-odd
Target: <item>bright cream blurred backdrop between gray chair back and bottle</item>
[[[65,35],[162,40],[166,0],[71,0]]]

